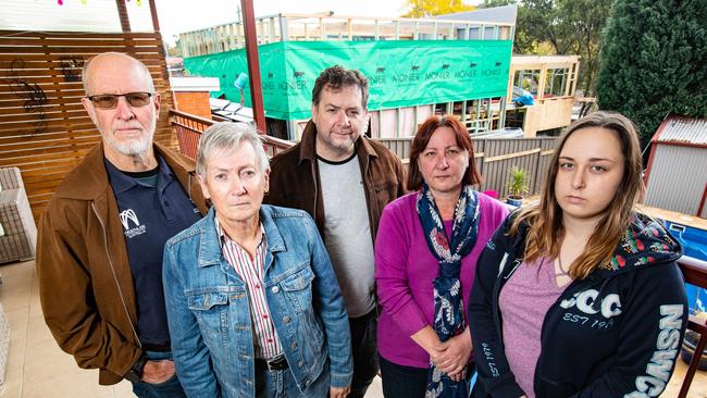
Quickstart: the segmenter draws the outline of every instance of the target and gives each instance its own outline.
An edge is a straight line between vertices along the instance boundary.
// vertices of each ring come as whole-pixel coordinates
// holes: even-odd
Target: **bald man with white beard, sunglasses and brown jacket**
[[[162,289],[164,242],[201,219],[195,163],[152,141],[160,96],[148,69],[115,52],[83,71],[83,105],[102,141],[41,219],[37,275],[47,325],[99,383],[183,397]]]

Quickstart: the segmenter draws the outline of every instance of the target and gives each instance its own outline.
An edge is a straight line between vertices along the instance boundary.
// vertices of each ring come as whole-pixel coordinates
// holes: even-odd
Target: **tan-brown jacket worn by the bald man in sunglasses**
[[[189,158],[154,145],[204,213]],[[162,250],[162,248],[154,248]],[[100,384],[115,384],[140,357],[137,304],[117,203],[103,164],[91,150],[57,189],[39,225],[37,276],[47,325],[62,350]]]

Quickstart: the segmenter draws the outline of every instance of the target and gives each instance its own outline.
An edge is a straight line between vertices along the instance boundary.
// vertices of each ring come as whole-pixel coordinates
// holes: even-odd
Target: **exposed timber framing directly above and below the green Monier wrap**
[[[343,16],[328,12],[262,16],[256,20],[256,26],[259,45],[324,40],[512,40],[516,30],[514,24],[501,22]],[[237,50],[244,43],[240,22],[184,33],[178,40],[185,58]],[[373,110],[371,133],[373,137],[382,137],[382,132],[392,132],[393,137],[411,136],[419,123],[438,112],[455,113],[470,133],[483,133],[505,125],[505,110],[504,97]],[[306,120],[287,121],[288,137],[298,139],[305,124]]]

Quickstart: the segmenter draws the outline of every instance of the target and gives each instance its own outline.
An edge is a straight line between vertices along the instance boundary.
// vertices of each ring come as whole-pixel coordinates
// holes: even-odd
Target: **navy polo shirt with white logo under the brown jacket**
[[[157,185],[134,178],[104,159],[120,211],[137,298],[137,335],[148,350],[169,350],[170,332],[162,289],[162,254],[169,238],[201,215],[166,162],[159,163]]]

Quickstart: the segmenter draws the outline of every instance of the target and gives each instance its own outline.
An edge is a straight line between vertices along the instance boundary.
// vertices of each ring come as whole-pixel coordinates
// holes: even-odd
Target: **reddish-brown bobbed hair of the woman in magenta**
[[[410,144],[410,165],[408,171],[408,189],[415,190],[422,186],[422,173],[420,173],[420,167],[418,166],[418,158],[420,153],[424,151],[432,138],[432,134],[437,130],[439,127],[449,127],[455,132],[455,138],[457,139],[457,146],[462,150],[469,153],[469,166],[464,171],[464,175],[461,178],[462,185],[474,185],[481,184],[483,177],[476,169],[476,162],[474,161],[474,146],[471,144],[471,138],[464,126],[459,122],[458,119],[449,115],[439,116],[433,115],[427,117],[418,133],[412,138]]]

